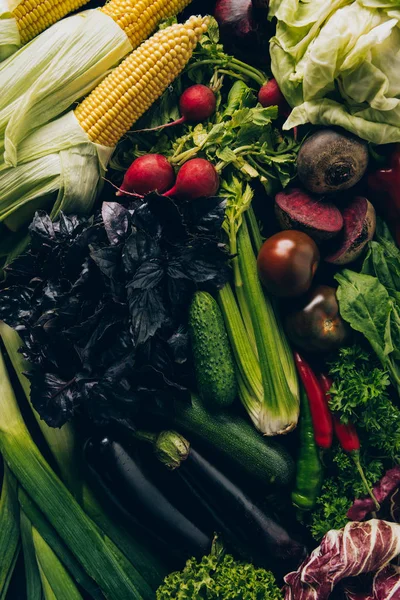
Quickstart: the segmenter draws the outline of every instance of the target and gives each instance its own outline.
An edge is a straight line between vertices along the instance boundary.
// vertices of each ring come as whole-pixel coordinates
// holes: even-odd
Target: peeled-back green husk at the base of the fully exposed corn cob
[[[0,164],[0,222],[49,196],[52,216],[90,212],[113,150],[89,141],[73,111],[34,132],[21,144],[17,167]]]

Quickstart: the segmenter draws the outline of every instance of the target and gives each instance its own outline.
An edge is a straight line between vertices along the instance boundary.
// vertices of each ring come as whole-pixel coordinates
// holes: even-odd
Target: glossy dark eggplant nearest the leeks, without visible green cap
[[[102,482],[103,492],[114,499],[128,523],[140,527],[171,554],[187,559],[208,554],[212,540],[182,514],[142,469],[137,456],[107,437],[89,440],[85,458]],[[129,518],[129,515],[131,518]]]

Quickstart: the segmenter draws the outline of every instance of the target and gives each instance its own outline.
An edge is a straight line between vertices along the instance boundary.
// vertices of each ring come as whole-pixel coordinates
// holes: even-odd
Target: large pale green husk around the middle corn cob
[[[0,64],[4,162],[19,164],[21,141],[88,94],[131,50],[111,17],[88,10],[56,23]]]

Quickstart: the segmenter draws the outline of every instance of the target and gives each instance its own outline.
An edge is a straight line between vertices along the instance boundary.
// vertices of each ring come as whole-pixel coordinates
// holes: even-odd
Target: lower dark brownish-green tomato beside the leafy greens
[[[343,346],[350,327],[339,313],[336,290],[318,285],[304,302],[286,317],[286,332],[291,341],[309,352],[329,352]]]

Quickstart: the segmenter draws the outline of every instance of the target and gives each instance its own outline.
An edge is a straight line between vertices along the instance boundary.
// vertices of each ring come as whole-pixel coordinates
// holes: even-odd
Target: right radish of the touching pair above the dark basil
[[[204,158],[188,160],[179,170],[175,185],[164,196],[185,200],[215,196],[219,177],[215,167]]]

